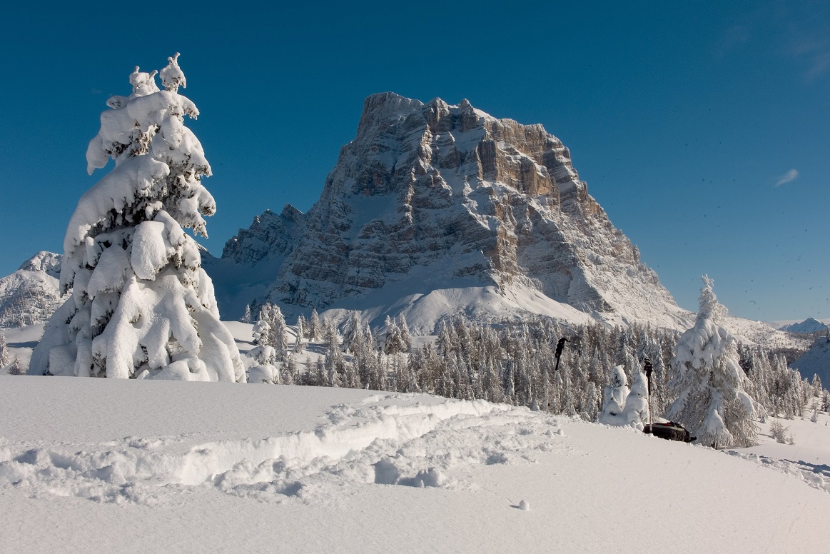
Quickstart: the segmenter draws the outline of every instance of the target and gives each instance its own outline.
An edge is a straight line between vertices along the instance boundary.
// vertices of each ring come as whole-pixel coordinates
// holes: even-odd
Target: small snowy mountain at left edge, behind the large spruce
[[[61,306],[61,256],[37,252],[16,272],[0,278],[0,327],[42,323]]]

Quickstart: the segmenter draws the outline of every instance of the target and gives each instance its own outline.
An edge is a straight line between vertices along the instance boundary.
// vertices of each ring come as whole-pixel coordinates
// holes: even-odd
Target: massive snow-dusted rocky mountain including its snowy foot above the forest
[[[227,319],[266,299],[289,317],[357,310],[377,325],[403,312],[416,333],[457,314],[678,329],[694,319],[588,194],[559,139],[466,100],[369,96],[308,213],[266,211],[221,259],[203,259]],[[726,326],[754,342],[776,334]]]

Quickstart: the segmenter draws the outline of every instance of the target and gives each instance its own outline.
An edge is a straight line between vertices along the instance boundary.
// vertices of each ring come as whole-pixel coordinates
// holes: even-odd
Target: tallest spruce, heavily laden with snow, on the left
[[[174,380],[245,380],[237,346],[219,321],[213,285],[201,267],[203,215],[216,204],[202,145],[184,126],[196,105],[178,54],[162,72],[129,77],[130,96],[113,96],[86,152],[90,174],[115,168],[72,214],[61,264],[70,299],[51,317],[29,373]]]

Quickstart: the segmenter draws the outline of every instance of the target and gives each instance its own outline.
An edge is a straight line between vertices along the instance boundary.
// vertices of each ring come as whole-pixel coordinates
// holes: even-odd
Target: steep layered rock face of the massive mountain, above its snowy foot
[[[676,322],[666,306],[680,312],[588,194],[559,139],[466,100],[369,96],[320,200],[283,227],[258,243],[241,232],[223,257],[271,255],[269,244],[282,252],[267,296],[289,311],[360,297],[417,266],[429,268],[429,282],[402,294],[465,282],[534,287],[623,319],[659,313],[666,326]]]

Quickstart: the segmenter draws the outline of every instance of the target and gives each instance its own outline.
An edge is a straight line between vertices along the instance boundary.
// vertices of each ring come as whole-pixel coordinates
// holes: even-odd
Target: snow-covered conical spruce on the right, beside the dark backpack
[[[714,448],[752,446],[754,401],[744,390],[737,342],[722,326],[726,308],[703,276],[695,325],[677,341],[671,388],[677,395],[666,417],[686,426],[697,442]]]

